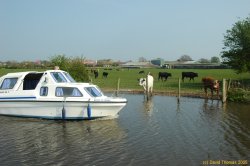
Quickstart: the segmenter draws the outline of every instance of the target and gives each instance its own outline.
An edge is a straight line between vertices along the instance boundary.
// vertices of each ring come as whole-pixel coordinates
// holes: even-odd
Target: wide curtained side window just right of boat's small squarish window
[[[74,87],[57,87],[55,95],[57,97],[82,97],[79,89]]]

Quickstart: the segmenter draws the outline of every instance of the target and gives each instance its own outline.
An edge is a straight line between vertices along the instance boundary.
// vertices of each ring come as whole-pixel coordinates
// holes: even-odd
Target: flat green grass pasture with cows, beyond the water
[[[139,71],[144,70],[145,74],[138,74]],[[20,72],[20,71],[30,71],[28,69],[0,69],[0,75],[4,75],[9,72]],[[36,69],[32,71],[37,71]],[[106,71],[109,73],[108,78],[102,78],[102,72]],[[166,82],[158,81],[159,72],[169,72],[172,77],[169,77]],[[202,92],[201,78],[205,76],[211,76],[215,79],[222,80],[223,78],[240,80],[243,83],[250,84],[250,74],[236,74],[234,70],[231,69],[115,69],[104,70],[99,69],[99,77],[94,78],[94,74],[89,72],[90,79],[92,83],[97,84],[103,90],[115,91],[117,87],[118,79],[120,79],[120,90],[131,90],[131,91],[142,91],[142,87],[138,85],[138,78],[145,77],[148,72],[154,76],[154,91],[155,92],[177,92],[178,89],[178,79],[181,78],[181,73],[185,72],[197,72],[199,77],[196,77],[194,82],[189,81],[187,78],[184,83],[181,82],[182,92],[192,92],[199,93]]]

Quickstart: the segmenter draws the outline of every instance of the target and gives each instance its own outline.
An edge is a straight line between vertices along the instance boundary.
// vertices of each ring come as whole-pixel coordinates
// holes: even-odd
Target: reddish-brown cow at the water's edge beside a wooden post
[[[213,91],[215,91],[217,94],[217,97],[219,97],[220,84],[218,80],[215,80],[212,77],[204,77],[202,78],[202,83],[203,83],[204,91],[207,97],[208,97],[208,94],[207,94],[208,88],[211,90],[212,97],[213,97]]]

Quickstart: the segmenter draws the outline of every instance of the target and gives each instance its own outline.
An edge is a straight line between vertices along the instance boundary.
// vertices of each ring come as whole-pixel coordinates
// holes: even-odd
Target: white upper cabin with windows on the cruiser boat
[[[0,78],[0,95],[43,97],[101,97],[103,93],[89,83],[76,83],[62,70],[9,73]]]

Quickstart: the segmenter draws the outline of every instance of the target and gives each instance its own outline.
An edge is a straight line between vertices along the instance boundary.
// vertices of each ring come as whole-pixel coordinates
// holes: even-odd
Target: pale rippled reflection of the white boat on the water
[[[0,142],[5,142],[1,146],[1,156],[7,150],[8,158],[21,159],[27,165],[55,164],[58,161],[63,162],[63,165],[77,164],[79,161],[92,162],[97,152],[103,149],[115,154],[123,146],[122,140],[126,137],[117,120],[64,122],[12,117],[0,119]],[[71,159],[67,163],[68,158],[76,157],[83,159],[73,163]],[[6,165],[20,165],[15,161],[8,161]]]

